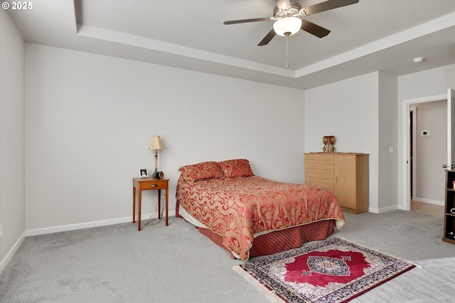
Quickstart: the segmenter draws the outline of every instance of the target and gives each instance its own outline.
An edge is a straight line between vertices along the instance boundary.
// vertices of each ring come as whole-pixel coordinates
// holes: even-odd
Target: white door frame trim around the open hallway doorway
[[[410,193],[410,111],[412,104],[447,100],[447,94],[437,96],[421,97],[415,99],[403,100],[402,103],[402,199],[398,199],[398,209],[405,211],[411,210],[411,193]],[[400,198],[400,197],[399,197]]]

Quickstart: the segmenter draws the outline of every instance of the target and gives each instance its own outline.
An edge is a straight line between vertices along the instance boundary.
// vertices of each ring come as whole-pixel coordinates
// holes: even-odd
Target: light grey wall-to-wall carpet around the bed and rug
[[[455,245],[441,241],[443,222],[410,211],[345,215],[334,236],[417,265],[352,302],[453,300]],[[169,223],[28,237],[0,275],[0,302],[268,302],[232,270],[242,261],[182,219]]]

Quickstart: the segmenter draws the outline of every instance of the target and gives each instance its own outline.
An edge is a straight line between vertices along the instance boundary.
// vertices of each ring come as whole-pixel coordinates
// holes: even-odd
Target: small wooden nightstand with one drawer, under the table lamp
[[[158,218],[161,218],[161,189],[166,189],[166,226],[168,226],[168,193],[169,180],[155,178],[133,178],[133,223],[136,223],[136,189],[138,191],[138,224],[137,230],[141,230],[141,196],[143,190],[158,189]]]

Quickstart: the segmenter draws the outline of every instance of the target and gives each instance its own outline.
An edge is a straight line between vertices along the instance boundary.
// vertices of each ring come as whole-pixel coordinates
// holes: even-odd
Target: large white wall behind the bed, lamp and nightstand
[[[257,175],[303,182],[303,91],[26,43],[26,229],[131,220],[154,135],[171,211],[191,163],[247,158]],[[152,213],[156,192],[143,202]]]

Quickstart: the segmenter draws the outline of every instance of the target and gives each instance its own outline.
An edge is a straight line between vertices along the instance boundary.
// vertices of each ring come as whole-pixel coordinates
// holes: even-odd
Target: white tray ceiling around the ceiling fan
[[[455,63],[455,0],[360,0],[306,16],[331,33],[289,37],[289,68],[284,37],[257,46],[273,21],[223,24],[270,17],[274,0],[31,2],[32,9],[7,10],[27,42],[299,89]],[[418,56],[425,60],[412,62]]]

